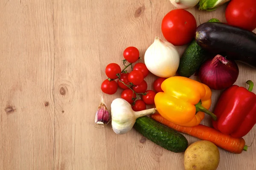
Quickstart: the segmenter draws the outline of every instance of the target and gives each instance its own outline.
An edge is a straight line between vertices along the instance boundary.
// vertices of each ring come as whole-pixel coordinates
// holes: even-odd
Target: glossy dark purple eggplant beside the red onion
[[[224,23],[203,23],[195,40],[201,48],[256,68],[256,34]]]

